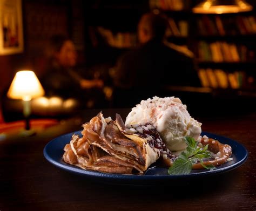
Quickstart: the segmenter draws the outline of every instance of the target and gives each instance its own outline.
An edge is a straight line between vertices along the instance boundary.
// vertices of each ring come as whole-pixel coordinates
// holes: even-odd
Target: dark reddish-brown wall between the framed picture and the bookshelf
[[[82,0],[22,1],[24,51],[0,56],[0,94],[8,89],[18,70],[44,70],[44,47],[57,33],[70,36],[79,52],[84,50]],[[78,33],[79,32],[79,33]]]

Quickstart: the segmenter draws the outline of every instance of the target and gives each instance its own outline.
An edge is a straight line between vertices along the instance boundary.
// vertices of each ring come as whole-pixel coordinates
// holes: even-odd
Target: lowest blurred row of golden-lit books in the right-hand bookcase
[[[244,71],[225,72],[220,69],[208,68],[199,69],[198,76],[203,87],[214,89],[240,89],[250,83]]]

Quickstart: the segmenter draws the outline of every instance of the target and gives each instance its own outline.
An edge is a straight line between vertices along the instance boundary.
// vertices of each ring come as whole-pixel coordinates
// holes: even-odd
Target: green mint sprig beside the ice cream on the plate
[[[186,137],[185,142],[187,148],[180,153],[179,157],[173,162],[173,165],[168,169],[171,175],[189,174],[192,170],[193,164],[200,162],[206,169],[214,169],[213,165],[204,165],[203,159],[210,158],[211,152],[208,151],[208,145],[203,148],[198,147],[198,142],[191,137]]]

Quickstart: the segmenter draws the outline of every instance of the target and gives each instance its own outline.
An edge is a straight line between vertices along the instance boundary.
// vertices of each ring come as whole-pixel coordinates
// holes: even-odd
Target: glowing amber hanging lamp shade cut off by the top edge
[[[194,13],[222,14],[248,12],[252,5],[245,0],[205,0],[193,8]]]

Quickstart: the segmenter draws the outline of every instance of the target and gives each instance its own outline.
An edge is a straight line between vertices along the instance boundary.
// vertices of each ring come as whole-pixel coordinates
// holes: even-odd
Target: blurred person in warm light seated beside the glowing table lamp
[[[46,96],[76,98],[83,106],[93,107],[90,98],[94,94],[91,90],[97,90],[96,96],[102,97],[103,81],[80,76],[76,68],[77,51],[72,40],[63,35],[52,36],[46,46],[46,55],[46,70],[40,79]]]

